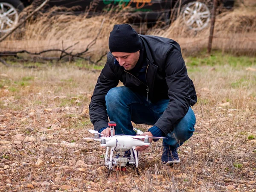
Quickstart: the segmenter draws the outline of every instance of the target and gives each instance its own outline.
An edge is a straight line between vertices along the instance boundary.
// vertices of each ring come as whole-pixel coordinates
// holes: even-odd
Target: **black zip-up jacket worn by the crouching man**
[[[145,96],[148,88],[148,98],[153,103],[160,99],[170,99],[168,108],[155,123],[155,126],[160,128],[164,134],[168,134],[174,125],[186,115],[189,106],[197,102],[195,87],[187,75],[180,45],[168,38],[151,35],[139,36],[147,57],[147,85],[129,71],[125,71],[123,67],[114,64],[115,58],[109,52],[108,60],[99,75],[89,106],[90,120],[95,130],[108,127],[105,95],[111,88],[117,86],[119,80],[125,87]]]

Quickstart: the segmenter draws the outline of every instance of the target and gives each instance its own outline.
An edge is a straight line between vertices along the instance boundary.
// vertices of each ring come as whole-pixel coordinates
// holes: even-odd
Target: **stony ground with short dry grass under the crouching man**
[[[139,154],[138,171],[110,175],[99,145],[82,139],[93,128],[88,105],[99,71],[76,64],[0,66],[0,191],[255,191],[256,72],[246,70],[255,68],[255,58],[247,67],[219,60],[225,64],[201,66],[202,58],[188,65],[197,123],[179,148],[181,163],[163,166],[158,141]],[[18,142],[17,134],[26,139]],[[79,160],[85,164],[76,165]]]

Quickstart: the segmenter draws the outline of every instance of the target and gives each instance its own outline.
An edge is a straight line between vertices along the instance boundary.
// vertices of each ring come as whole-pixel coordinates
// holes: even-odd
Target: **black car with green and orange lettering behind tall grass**
[[[73,7],[74,13],[77,14],[85,12],[93,5],[93,9],[90,9],[90,16],[107,12],[110,9],[121,9],[130,16],[128,22],[131,24],[154,24],[157,20],[163,20],[169,23],[170,18],[174,18],[177,13],[180,13],[190,29],[201,30],[209,23],[212,1],[213,0],[49,0],[47,7]],[[17,25],[19,12],[32,2],[32,0],[0,0],[0,32],[8,32]],[[43,0],[37,3],[40,2],[42,3]],[[220,5],[230,9],[234,5],[234,0],[222,0]]]

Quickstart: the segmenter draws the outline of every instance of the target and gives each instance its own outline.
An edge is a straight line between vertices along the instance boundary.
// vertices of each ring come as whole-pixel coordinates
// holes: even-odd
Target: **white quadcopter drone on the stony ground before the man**
[[[84,138],[99,141],[100,146],[107,148],[105,154],[105,165],[108,169],[113,169],[114,167],[121,167],[121,170],[123,170],[122,168],[124,168],[126,165],[135,165],[137,168],[139,160],[135,148],[138,146],[150,145],[149,138],[166,139],[165,137],[149,137],[147,135],[113,135],[116,123],[112,121],[109,122],[108,125],[111,128],[110,137],[105,137],[106,135],[100,134],[98,131],[89,129],[88,131],[94,134],[94,137]],[[140,131],[140,129],[134,128],[134,130],[137,131],[137,134],[143,134],[143,131]],[[100,135],[103,137],[100,137]],[[144,139],[144,141],[142,139]],[[128,150],[130,150],[130,157],[125,157],[125,151]],[[114,151],[116,151],[116,157],[113,157]]]

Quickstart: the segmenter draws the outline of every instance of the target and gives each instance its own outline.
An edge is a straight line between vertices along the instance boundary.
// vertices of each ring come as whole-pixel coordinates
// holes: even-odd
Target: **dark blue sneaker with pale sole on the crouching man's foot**
[[[174,163],[180,163],[180,158],[178,156],[177,147],[171,145],[163,145],[163,154],[161,158],[163,164],[169,165]]]

